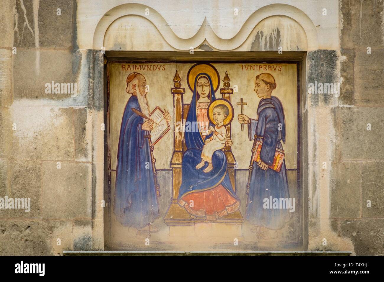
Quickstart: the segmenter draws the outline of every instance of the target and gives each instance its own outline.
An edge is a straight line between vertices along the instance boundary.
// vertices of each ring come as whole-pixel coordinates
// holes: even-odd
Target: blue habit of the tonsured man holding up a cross
[[[260,158],[264,163],[271,165],[276,148],[283,149],[281,141],[285,142],[283,106],[277,97],[271,96],[271,99],[262,99],[259,102],[257,114],[258,120],[251,119],[251,124],[248,125],[248,137],[253,140],[256,134],[257,140],[263,142]],[[290,220],[291,214],[289,209],[264,209],[263,200],[270,200],[270,196],[278,199],[289,198],[285,160],[280,173],[270,168],[263,170],[253,162],[246,208],[247,221],[269,229],[281,229]]]

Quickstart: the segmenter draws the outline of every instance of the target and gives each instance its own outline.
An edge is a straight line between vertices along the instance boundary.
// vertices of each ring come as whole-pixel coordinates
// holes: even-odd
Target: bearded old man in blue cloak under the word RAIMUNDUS
[[[151,165],[151,151],[146,135],[153,129],[153,120],[146,120],[133,112],[139,110],[149,117],[147,82],[140,73],[127,76],[126,92],[129,97],[121,121],[118,157],[116,165],[116,186],[114,213],[124,226],[129,226],[129,235],[149,238],[159,228],[152,225],[159,217],[159,205]],[[164,119],[170,121],[170,114],[164,110]]]

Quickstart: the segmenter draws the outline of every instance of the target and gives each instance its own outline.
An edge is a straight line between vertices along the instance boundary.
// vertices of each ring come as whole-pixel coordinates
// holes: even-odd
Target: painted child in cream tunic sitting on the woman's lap
[[[215,127],[210,126],[209,130],[213,132],[212,136],[205,140],[205,145],[201,152],[201,162],[196,165],[196,169],[204,167],[205,162],[208,166],[203,172],[208,173],[213,169],[212,155],[216,150],[221,150],[225,146],[225,137],[227,137],[227,129],[223,124],[224,120],[228,117],[229,109],[223,104],[218,104],[213,109],[212,118],[215,121]]]

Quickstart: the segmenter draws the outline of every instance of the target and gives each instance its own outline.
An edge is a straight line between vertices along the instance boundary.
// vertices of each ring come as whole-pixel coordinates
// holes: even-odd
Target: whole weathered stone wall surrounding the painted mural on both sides
[[[0,198],[31,198],[31,211],[0,209],[0,254],[62,254],[64,250],[104,247],[103,54],[101,46],[93,45],[97,41],[93,35],[98,20],[125,2],[2,1]],[[153,4],[168,21],[177,18],[169,11],[182,10],[170,4],[161,7],[151,1],[139,2]],[[276,1],[256,1],[257,5],[244,4],[247,15],[243,20],[232,21],[223,16],[232,13],[229,2],[207,12],[204,24],[213,23],[218,36],[211,40],[215,46],[204,41],[200,51],[225,50],[228,46],[238,51],[262,51],[263,46],[254,44],[256,30],[249,38],[244,32],[234,36],[246,23],[262,20],[262,13],[269,15],[262,7],[271,4],[270,11],[293,11],[291,15],[297,16],[302,26],[300,32],[306,33],[307,43],[300,41],[298,48],[308,51],[307,81],[341,82],[339,97],[310,94],[304,105],[304,122],[310,132],[305,142],[308,184],[303,186],[309,196],[308,250],[383,254],[383,1],[340,0],[339,9],[329,1],[311,0],[313,5],[279,1],[298,7],[295,9],[281,9],[274,6]],[[329,18],[336,18],[336,24],[321,17],[323,6],[328,7]],[[261,12],[254,14],[258,9]],[[304,12],[295,12],[297,9]],[[217,20],[216,11],[222,12]],[[251,20],[246,22],[248,17]],[[174,25],[179,37],[164,31],[166,37],[174,36],[168,42],[174,43],[172,47],[167,42],[156,46],[169,50],[182,46],[181,37],[194,36],[198,30],[194,26],[202,25],[204,17],[194,19],[195,24],[185,30]],[[316,26],[316,40],[310,36],[314,28],[307,26],[308,22]],[[206,30],[199,36],[212,35]],[[113,30],[108,36],[113,40]],[[199,36],[192,39],[198,41]],[[230,38],[228,42],[226,38]],[[242,41],[236,45],[236,40]],[[107,47],[124,46],[109,42]],[[188,49],[190,45],[185,46]],[[371,54],[367,54],[367,47]],[[47,94],[45,84],[51,81],[76,83],[76,96]],[[367,207],[368,200],[371,207]]]

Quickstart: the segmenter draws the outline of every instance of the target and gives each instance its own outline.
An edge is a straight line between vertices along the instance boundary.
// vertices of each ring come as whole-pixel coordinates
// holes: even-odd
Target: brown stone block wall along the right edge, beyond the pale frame
[[[349,238],[357,255],[382,255],[384,1],[342,0],[339,5],[343,91],[332,117],[337,136],[330,186],[332,230]]]

